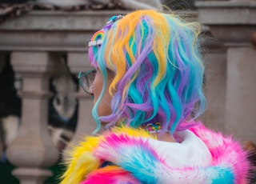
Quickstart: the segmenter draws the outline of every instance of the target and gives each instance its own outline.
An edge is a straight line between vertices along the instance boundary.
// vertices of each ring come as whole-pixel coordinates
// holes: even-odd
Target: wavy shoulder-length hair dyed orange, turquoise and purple
[[[184,128],[182,122],[198,118],[206,105],[200,29],[198,23],[154,10],[137,10],[104,26],[102,42],[89,48],[91,65],[104,77],[92,111],[95,131],[101,122],[108,122],[107,127],[123,122],[135,128],[162,122],[162,130],[172,134]],[[108,86],[110,71],[114,78]],[[106,90],[113,96],[112,114],[98,117]]]

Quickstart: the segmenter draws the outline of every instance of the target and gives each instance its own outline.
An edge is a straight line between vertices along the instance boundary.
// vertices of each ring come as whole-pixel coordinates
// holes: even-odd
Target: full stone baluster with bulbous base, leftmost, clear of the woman
[[[42,184],[51,175],[47,169],[58,161],[47,130],[49,77],[54,62],[47,52],[11,54],[14,71],[22,76],[22,118],[18,135],[7,150],[7,158],[17,166],[13,174],[21,184]]]

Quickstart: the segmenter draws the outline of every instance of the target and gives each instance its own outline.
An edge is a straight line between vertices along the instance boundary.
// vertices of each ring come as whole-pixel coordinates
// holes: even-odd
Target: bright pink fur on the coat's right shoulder
[[[250,169],[250,164],[246,160],[246,151],[242,150],[242,146],[235,142],[231,137],[224,137],[220,133],[206,129],[205,126],[199,124],[190,128],[202,139],[212,155],[213,166],[228,165],[233,166],[234,181],[236,184],[246,183],[247,174]]]

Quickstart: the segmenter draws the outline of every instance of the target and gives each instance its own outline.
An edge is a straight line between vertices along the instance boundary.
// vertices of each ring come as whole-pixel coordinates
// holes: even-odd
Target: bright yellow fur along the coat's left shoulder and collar
[[[145,130],[135,130],[125,126],[115,127],[111,132],[133,137],[154,138]],[[110,134],[110,132],[106,132],[106,134]],[[101,162],[98,158],[94,157],[94,149],[104,139],[104,135],[98,137],[90,136],[85,138],[85,141],[81,142],[78,146],[74,146],[73,151],[70,152],[70,159],[66,161],[67,170],[62,175],[61,184],[78,184],[86,178],[87,174],[98,169]]]

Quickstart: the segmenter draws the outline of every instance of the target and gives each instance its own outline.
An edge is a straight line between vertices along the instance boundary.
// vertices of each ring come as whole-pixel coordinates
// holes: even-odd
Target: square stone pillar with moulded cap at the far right
[[[197,2],[198,20],[227,50],[225,129],[242,140],[256,141],[256,1]],[[223,80],[225,80],[223,78]]]

